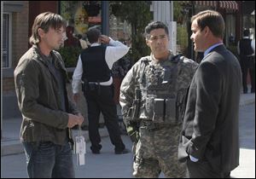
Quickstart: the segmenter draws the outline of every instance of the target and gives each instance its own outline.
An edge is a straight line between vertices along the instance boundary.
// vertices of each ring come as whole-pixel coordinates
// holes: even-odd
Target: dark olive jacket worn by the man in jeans
[[[61,55],[51,52],[55,66],[61,70],[64,83],[67,72]],[[72,138],[67,129],[68,114],[79,113],[67,98],[64,89],[67,112],[61,111],[61,96],[55,72],[40,55],[39,49],[33,45],[20,58],[15,68],[15,90],[23,121],[20,128],[21,141],[52,141],[64,145],[67,136]]]

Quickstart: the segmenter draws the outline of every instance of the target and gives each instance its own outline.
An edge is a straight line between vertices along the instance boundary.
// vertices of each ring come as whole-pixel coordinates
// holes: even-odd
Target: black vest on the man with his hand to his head
[[[99,45],[82,51],[83,81],[107,82],[110,79],[111,70],[105,60],[106,49],[107,47]]]

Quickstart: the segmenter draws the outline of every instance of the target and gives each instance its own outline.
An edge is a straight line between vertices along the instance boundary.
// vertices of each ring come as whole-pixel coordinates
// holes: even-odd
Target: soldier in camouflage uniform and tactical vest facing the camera
[[[177,146],[184,97],[198,66],[168,49],[168,29],[160,21],[145,28],[152,53],[132,66],[120,88],[120,105],[134,152],[133,176],[184,177]]]

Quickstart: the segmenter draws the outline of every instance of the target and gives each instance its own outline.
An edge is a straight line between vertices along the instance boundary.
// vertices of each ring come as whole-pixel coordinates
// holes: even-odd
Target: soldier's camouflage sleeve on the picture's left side
[[[135,88],[138,81],[139,67],[140,61],[137,61],[134,66],[131,67],[129,72],[125,75],[125,78],[122,81],[120,86],[120,95],[119,95],[119,103],[122,107],[122,114],[124,116],[124,122],[127,124],[126,113],[129,108],[132,106],[132,102],[135,98]],[[129,119],[128,119],[129,120]]]

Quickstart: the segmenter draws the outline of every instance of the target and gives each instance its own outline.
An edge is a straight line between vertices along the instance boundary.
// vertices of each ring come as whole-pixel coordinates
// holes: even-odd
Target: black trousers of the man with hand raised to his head
[[[92,150],[100,150],[102,147],[98,130],[100,113],[102,113],[110,140],[115,146],[115,151],[124,150],[125,144],[120,136],[117,110],[113,101],[113,85],[89,84],[85,87],[84,96],[88,107],[90,148]]]

